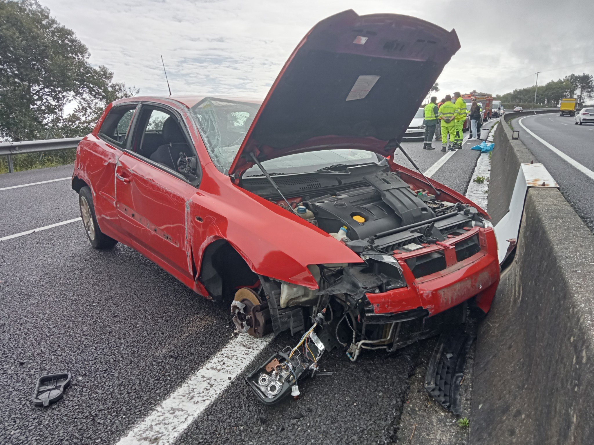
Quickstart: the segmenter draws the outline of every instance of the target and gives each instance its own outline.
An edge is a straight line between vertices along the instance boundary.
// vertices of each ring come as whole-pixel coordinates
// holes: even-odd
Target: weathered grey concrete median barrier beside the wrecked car
[[[530,161],[538,162],[499,125],[494,223],[507,213],[520,163]],[[529,189],[516,258],[479,326],[470,443],[594,443],[593,345],[594,236],[558,189]]]

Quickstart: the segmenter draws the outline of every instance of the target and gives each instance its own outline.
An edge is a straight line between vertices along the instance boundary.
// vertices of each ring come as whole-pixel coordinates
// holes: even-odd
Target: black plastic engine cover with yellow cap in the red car
[[[366,239],[376,233],[435,216],[395,174],[377,173],[364,179],[369,187],[350,189],[339,192],[337,196],[326,195],[311,201],[322,230],[333,233],[346,225],[350,239]],[[353,217],[363,218],[364,222],[358,222]]]

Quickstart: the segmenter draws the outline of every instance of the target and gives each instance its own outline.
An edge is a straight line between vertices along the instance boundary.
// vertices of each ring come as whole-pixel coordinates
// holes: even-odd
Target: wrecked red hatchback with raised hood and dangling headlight
[[[109,104],[72,177],[93,247],[120,241],[235,325],[297,346],[248,376],[264,403],[297,392],[324,348],[393,351],[489,310],[488,215],[394,163],[455,31],[396,14],[333,15],[263,102],[134,97]]]

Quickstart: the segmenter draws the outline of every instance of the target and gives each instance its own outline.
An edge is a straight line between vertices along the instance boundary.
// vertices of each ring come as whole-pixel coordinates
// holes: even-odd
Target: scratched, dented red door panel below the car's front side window
[[[196,188],[128,150],[115,173],[117,213],[133,247],[181,281],[193,283],[186,215]]]

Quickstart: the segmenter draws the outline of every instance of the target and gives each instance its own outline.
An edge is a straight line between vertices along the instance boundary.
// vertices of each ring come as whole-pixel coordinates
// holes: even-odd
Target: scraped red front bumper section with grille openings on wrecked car
[[[491,227],[467,228],[467,233],[450,237],[424,249],[413,252],[394,251],[394,258],[402,266],[407,287],[380,294],[366,294],[374,312],[397,313],[411,309],[426,309],[429,316],[457,306],[476,295],[476,304],[485,313],[489,311],[500,278],[497,240]],[[481,250],[462,261],[456,260],[454,246],[460,241],[478,235]],[[434,274],[415,278],[406,259],[443,251],[446,268]]]

